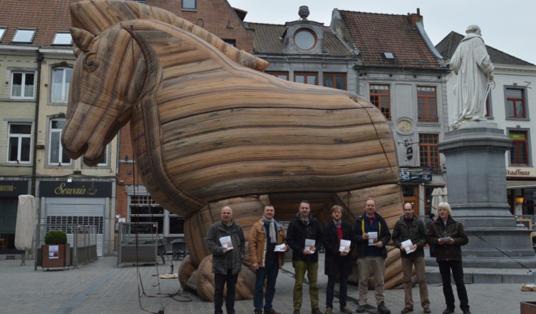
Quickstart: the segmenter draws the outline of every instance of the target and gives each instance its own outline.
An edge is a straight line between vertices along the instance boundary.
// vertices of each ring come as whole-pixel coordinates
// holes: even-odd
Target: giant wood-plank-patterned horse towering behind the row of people
[[[223,204],[232,205],[246,235],[264,203],[275,206],[279,220],[290,220],[304,198],[328,221],[331,205],[341,204],[354,219],[373,196],[395,222],[402,201],[395,146],[371,103],[264,74],[267,62],[162,9],[80,1],[71,15],[78,59],[63,148],[94,165],[130,121],[148,191],[188,217],[183,287],[212,299],[204,237]],[[401,283],[398,264],[391,250],[388,287]],[[242,267],[238,298],[252,298],[253,285],[252,270]]]

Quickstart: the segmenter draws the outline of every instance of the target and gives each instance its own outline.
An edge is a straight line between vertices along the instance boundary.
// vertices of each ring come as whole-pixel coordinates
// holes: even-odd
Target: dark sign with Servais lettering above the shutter
[[[112,196],[112,183],[41,181],[39,183],[39,196],[48,198],[109,198]]]

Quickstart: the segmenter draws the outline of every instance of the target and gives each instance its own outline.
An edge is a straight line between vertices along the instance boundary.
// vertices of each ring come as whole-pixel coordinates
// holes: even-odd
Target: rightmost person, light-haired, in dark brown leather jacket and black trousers
[[[462,247],[469,242],[465,229],[459,221],[455,221],[452,216],[452,210],[448,203],[439,203],[438,205],[439,218],[432,223],[428,229],[428,240],[430,243],[436,244],[436,261],[439,264],[439,273],[443,280],[443,294],[445,295],[445,303],[447,308],[443,314],[454,313],[454,293],[450,285],[450,270],[456,290],[458,290],[458,298],[460,298],[460,308],[463,314],[470,314],[469,298],[465,283],[463,283],[463,267],[462,267]]]

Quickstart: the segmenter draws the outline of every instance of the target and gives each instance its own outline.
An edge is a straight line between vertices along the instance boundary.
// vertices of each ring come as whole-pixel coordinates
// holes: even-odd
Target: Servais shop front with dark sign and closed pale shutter
[[[66,231],[69,243],[73,240],[73,228],[70,226],[93,226],[97,255],[112,255],[115,222],[113,185],[113,181],[66,182],[64,178],[62,181],[40,181],[43,225],[46,229]]]

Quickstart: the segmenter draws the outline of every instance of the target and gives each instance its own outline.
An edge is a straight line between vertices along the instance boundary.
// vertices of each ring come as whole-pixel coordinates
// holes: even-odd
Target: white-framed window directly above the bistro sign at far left
[[[8,163],[29,163],[31,123],[9,123]]]

